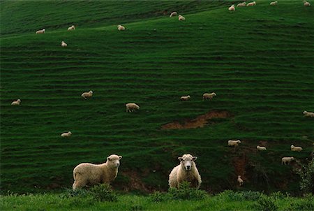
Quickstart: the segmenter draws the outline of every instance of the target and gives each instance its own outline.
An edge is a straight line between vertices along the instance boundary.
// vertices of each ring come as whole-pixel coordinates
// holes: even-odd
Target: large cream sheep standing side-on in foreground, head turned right
[[[121,159],[121,155],[112,154],[105,163],[80,163],[73,170],[73,190],[99,183],[110,184],[118,175]]]

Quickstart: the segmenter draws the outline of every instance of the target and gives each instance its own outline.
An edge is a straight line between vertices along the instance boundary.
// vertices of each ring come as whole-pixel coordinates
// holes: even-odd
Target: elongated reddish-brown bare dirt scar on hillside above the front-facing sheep
[[[171,129],[195,129],[198,127],[203,127],[207,123],[209,123],[210,119],[215,118],[228,118],[231,117],[229,112],[226,110],[211,110],[204,115],[200,115],[195,119],[187,119],[184,122],[170,122],[168,124],[164,124],[161,126],[163,130],[171,130]]]

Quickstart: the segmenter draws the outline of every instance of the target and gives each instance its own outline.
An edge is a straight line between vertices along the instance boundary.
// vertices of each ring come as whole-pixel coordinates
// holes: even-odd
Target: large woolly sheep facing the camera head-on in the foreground
[[[202,183],[200,173],[196,168],[195,160],[190,154],[178,157],[180,164],[174,167],[169,175],[170,188],[179,188],[182,182],[189,182],[191,187],[198,189]]]

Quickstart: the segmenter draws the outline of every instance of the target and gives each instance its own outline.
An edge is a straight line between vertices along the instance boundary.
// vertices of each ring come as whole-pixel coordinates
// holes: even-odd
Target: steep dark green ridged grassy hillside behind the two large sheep
[[[257,1],[229,13],[232,2],[1,1],[1,191],[71,187],[78,163],[110,154],[124,157],[115,189],[165,190],[177,157],[190,153],[207,191],[237,189],[243,175],[241,189],[296,193],[298,165],[281,157],[306,162],[313,151],[313,118],[302,115],[314,111],[313,7]],[[217,96],[202,101],[204,92]],[[127,113],[129,102],[140,110]],[[208,112],[229,115],[161,129]]]

